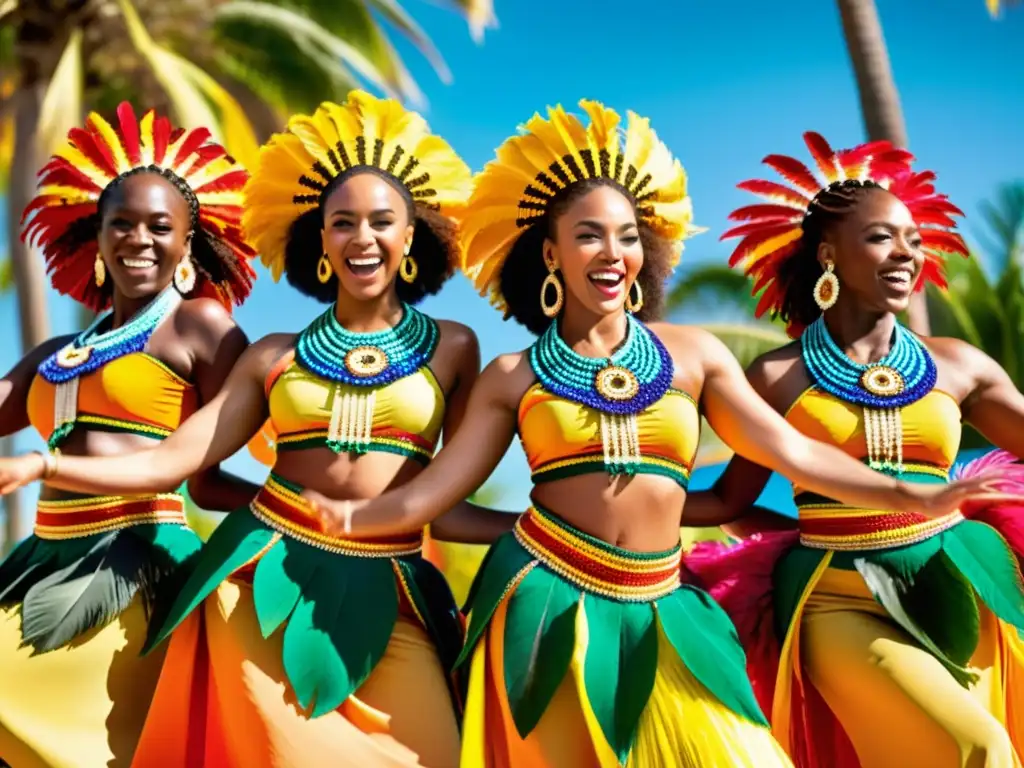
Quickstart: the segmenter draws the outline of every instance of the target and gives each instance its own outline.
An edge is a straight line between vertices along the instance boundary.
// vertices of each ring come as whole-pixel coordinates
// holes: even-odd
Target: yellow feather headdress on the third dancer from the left
[[[463,271],[499,309],[506,309],[499,276],[512,246],[578,181],[608,178],[622,185],[636,200],[639,218],[674,245],[672,266],[682,241],[700,231],[691,224],[686,172],[649,121],[628,112],[623,131],[614,110],[587,99],[580,106],[588,127],[560,105],[549,108],[546,119],[535,114],[474,181],[460,223]]]

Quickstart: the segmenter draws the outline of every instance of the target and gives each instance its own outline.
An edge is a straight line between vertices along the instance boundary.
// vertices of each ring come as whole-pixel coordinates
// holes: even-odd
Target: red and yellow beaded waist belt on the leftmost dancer
[[[177,494],[158,494],[40,501],[34,532],[40,539],[80,539],[152,523],[186,525],[184,499]]]

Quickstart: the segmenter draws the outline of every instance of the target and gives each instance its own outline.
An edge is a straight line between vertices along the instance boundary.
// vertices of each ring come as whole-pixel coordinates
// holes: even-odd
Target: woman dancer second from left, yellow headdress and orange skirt
[[[182,626],[172,639],[136,765],[458,762],[446,672],[462,626],[419,554],[422,528],[340,540],[299,495],[378,496],[415,476],[462,420],[476,338],[412,304],[456,268],[446,215],[470,180],[393,100],[353,91],[292,118],[261,151],[244,225],[274,278],[331,307],[298,335],[253,344],[220,396],[158,450],[51,467],[63,486],[165,488],[233,454],[267,417],[276,435],[265,485],[214,531],[159,634],[205,601],[206,637]],[[38,474],[37,461],[17,461],[0,475]],[[507,517],[485,520],[493,530],[447,522],[493,541]]]

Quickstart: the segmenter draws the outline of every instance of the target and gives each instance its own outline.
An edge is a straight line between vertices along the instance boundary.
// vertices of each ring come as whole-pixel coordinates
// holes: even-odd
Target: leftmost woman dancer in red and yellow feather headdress
[[[0,380],[0,433],[31,425],[53,452],[35,535],[0,564],[0,758],[15,766],[127,765],[163,660],[139,657],[146,611],[200,547],[177,484],[62,493],[46,482],[54,457],[117,463],[162,440],[247,344],[229,313],[254,276],[239,229],[246,171],[205,129],[137,121],[127,103],[117,116],[71,132],[26,211],[53,287],[111,311]],[[210,509],[256,493],[215,464],[186,478]]]

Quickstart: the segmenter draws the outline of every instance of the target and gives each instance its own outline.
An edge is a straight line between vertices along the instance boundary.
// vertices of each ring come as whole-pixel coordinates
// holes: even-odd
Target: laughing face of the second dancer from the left
[[[392,290],[413,224],[404,198],[375,173],[358,173],[324,203],[324,253],[341,292],[369,301]]]

